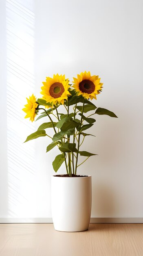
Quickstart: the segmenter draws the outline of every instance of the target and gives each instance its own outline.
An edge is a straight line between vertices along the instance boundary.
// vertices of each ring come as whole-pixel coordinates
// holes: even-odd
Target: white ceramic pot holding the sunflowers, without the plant
[[[66,232],[87,230],[91,196],[91,176],[52,176],[51,209],[54,228]]]

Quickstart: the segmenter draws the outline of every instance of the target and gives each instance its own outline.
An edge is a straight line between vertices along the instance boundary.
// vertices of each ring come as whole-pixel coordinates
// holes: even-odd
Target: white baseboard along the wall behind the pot
[[[0,223],[53,223],[52,218],[0,218]],[[90,218],[90,223],[143,223],[143,218]]]

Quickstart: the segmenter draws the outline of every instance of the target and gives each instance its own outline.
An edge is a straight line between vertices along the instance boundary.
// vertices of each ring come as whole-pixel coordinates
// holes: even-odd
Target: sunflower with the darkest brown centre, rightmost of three
[[[82,72],[77,75],[77,78],[73,77],[73,88],[77,92],[77,95],[82,95],[85,99],[97,99],[96,94],[99,94],[102,90],[103,83],[100,83],[98,76],[91,76],[90,72]]]

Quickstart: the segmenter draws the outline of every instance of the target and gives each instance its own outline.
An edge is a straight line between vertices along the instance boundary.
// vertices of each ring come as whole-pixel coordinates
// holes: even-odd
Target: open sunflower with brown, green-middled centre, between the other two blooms
[[[64,99],[68,99],[68,95],[71,95],[68,89],[70,88],[68,79],[65,79],[65,75],[54,74],[53,78],[46,77],[46,82],[42,82],[44,86],[41,87],[43,99],[53,105],[57,103],[64,104]]]

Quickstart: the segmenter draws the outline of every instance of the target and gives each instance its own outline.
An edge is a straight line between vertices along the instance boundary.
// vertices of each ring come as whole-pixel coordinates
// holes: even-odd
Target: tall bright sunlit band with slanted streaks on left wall
[[[9,217],[32,216],[34,211],[34,143],[23,144],[34,126],[22,111],[26,97],[35,91],[33,3],[6,1]]]

